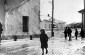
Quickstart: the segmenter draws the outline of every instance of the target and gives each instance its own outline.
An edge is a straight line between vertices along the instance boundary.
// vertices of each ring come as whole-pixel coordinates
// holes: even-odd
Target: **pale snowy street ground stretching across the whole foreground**
[[[6,41],[6,40],[5,40]],[[0,55],[41,55],[39,38],[33,40],[21,39],[18,41],[2,41]],[[48,54],[45,55],[83,55],[85,40],[73,40],[69,42],[64,38],[50,38],[48,41]]]

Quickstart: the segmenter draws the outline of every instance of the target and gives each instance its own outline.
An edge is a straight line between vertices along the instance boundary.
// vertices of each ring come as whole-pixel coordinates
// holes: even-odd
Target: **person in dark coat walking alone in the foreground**
[[[46,49],[46,54],[48,53],[48,36],[45,34],[45,30],[41,29],[41,34],[40,34],[40,42],[41,42],[41,49],[42,49],[42,55],[44,55],[44,49]]]

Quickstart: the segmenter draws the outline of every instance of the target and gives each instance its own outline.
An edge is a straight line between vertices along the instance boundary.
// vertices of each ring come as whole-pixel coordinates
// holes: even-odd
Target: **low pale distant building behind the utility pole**
[[[49,31],[49,30],[51,30],[51,24],[52,24],[51,19],[43,20],[40,23],[40,28]],[[65,27],[65,22],[63,22],[63,21],[54,20],[53,24],[55,25],[54,30],[62,30]]]

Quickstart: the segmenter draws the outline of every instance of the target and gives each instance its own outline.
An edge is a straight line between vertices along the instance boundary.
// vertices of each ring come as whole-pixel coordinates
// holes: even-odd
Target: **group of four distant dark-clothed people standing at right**
[[[66,40],[67,40],[67,37],[69,37],[69,41],[72,40],[71,39],[71,33],[72,33],[71,28],[66,27],[65,30],[64,30],[64,35],[65,35],[64,37],[65,37]],[[76,40],[77,40],[78,34],[79,34],[78,30],[77,30],[77,28],[75,28],[75,39]],[[80,31],[80,36],[81,36],[81,39],[84,38],[84,31],[83,31],[82,28],[81,28],[81,31]]]

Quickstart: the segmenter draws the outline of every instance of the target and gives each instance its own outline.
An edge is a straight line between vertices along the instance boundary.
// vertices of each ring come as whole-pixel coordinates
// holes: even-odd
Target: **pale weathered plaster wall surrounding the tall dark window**
[[[15,5],[15,7],[16,6],[18,5]],[[29,26],[28,26],[29,34],[39,34],[40,33],[39,12],[40,12],[40,0],[29,0],[22,6],[15,8],[12,11],[6,12],[5,35],[26,35],[27,34],[22,31],[22,27],[23,27],[22,16],[29,16]]]

